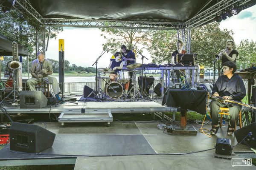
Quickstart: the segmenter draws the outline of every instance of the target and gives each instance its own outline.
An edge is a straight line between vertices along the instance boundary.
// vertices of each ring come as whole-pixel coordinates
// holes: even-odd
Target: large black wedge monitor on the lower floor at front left
[[[12,122],[10,128],[10,149],[26,153],[39,153],[49,147],[55,133],[38,125]]]

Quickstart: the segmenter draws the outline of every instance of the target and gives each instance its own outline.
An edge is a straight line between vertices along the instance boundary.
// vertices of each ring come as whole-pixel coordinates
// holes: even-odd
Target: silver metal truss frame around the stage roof
[[[211,2],[201,8],[198,14],[185,21],[184,23],[161,22],[161,21],[119,21],[119,20],[85,20],[85,19],[66,19],[66,18],[44,18],[31,6],[28,0],[16,0],[13,7],[25,15],[31,15],[40,24],[54,27],[80,27],[80,28],[135,28],[135,29],[165,29],[165,30],[182,30],[181,39],[186,44],[187,52],[190,53],[190,38],[191,28],[203,26],[215,20],[215,16],[221,14],[222,11],[231,8],[235,4],[245,4],[250,0],[220,0],[214,6],[204,8]],[[204,10],[204,11],[202,11]],[[202,12],[201,12],[202,11]],[[45,29],[43,36],[40,36],[43,41],[37,46],[37,52],[45,53]],[[39,39],[38,39],[39,40]],[[37,43],[38,43],[37,40]]]

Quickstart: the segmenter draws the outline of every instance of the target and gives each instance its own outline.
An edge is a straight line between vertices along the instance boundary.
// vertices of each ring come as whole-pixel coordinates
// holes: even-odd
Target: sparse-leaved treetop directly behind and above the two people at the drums
[[[141,30],[133,28],[99,28],[105,34],[101,34],[107,42],[102,44],[103,49],[108,47],[111,53],[120,51],[121,45],[126,45],[128,49],[137,49],[139,45],[147,46],[151,42],[154,30]],[[109,37],[110,36],[110,37]]]

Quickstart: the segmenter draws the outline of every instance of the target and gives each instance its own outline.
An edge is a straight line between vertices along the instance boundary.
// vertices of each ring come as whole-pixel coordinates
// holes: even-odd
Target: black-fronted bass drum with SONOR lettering
[[[112,99],[117,99],[122,96],[122,85],[120,85],[118,82],[111,82],[107,86],[107,94]]]

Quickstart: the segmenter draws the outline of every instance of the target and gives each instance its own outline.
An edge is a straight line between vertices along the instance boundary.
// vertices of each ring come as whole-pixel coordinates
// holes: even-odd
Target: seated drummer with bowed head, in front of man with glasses
[[[116,52],[114,54],[114,57],[116,58],[115,60],[112,60],[108,66],[108,68],[112,69],[114,71],[113,74],[109,75],[109,78],[111,81],[115,81],[116,80],[116,73],[118,71],[122,70],[122,54],[120,52]]]

